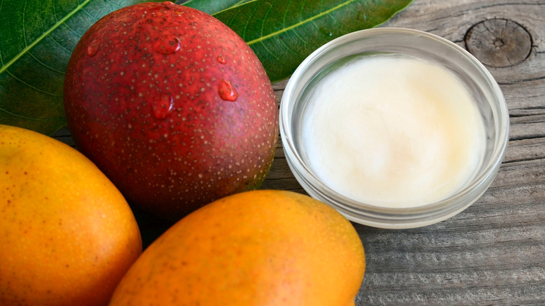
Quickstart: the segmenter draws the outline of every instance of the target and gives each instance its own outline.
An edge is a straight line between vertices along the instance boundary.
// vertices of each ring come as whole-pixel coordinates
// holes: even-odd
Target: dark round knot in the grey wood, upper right
[[[532,36],[517,22],[495,18],[474,24],[465,34],[465,46],[483,64],[503,68],[530,56]]]

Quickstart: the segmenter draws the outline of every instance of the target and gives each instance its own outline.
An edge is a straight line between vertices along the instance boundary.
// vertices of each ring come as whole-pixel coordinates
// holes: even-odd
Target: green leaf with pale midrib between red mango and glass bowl
[[[194,0],[195,1],[195,0]],[[271,82],[288,78],[324,43],[376,27],[412,0],[254,0],[214,15],[254,50]]]

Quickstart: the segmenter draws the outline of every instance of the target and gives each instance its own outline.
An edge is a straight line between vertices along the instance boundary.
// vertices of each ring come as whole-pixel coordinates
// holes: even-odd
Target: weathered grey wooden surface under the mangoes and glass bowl
[[[437,34],[484,62],[507,99],[510,141],[491,188],[455,217],[410,230],[354,224],[367,256],[356,305],[545,305],[545,1],[414,0],[382,27]],[[66,129],[56,137],[71,143]],[[281,143],[262,188],[304,193]],[[145,245],[167,227],[136,215]]]

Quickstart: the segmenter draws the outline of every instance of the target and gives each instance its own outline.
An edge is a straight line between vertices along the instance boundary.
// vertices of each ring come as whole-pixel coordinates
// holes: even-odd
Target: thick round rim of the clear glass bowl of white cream
[[[342,194],[337,193],[324,184],[324,182],[321,182],[321,180],[319,180],[319,178],[312,173],[312,169],[303,163],[303,159],[296,150],[293,138],[291,134],[288,133],[291,126],[289,103],[290,101],[293,103],[293,100],[296,99],[293,97],[293,94],[297,94],[295,92],[296,85],[302,75],[304,75],[304,73],[307,71],[307,68],[309,68],[314,61],[317,61],[322,54],[335,48],[337,45],[350,43],[352,41],[368,38],[370,36],[391,34],[414,36],[415,38],[428,39],[434,43],[446,45],[447,48],[451,48],[453,51],[460,54],[464,61],[474,65],[479,71],[483,80],[486,80],[488,86],[491,88],[491,93],[495,97],[494,101],[497,101],[495,108],[499,110],[499,112],[495,114],[494,119],[495,121],[500,121],[499,124],[502,124],[501,126],[499,124],[495,124],[496,139],[494,140],[495,145],[491,153],[491,159],[487,161],[488,164],[486,164],[486,167],[483,168],[481,174],[472,178],[471,184],[468,184],[460,191],[457,191],[456,194],[453,194],[442,201],[416,207],[382,207],[378,205],[361,203],[354,201],[351,198],[347,198],[346,196],[342,196]],[[307,85],[308,84],[305,84],[305,86]],[[491,103],[491,101],[488,102]],[[509,112],[504,95],[502,94],[500,86],[493,78],[493,75],[491,75],[491,73],[486,69],[484,64],[481,64],[481,62],[467,50],[461,48],[459,45],[456,45],[456,43],[453,43],[446,38],[442,38],[425,31],[399,27],[379,27],[354,31],[344,36],[340,36],[339,38],[335,38],[334,40],[322,45],[320,48],[312,52],[307,58],[305,58],[298,68],[296,68],[293,75],[291,75],[291,78],[287,82],[284,89],[284,94],[282,95],[279,107],[279,130],[289,168],[296,177],[296,180],[298,180],[303,189],[305,189],[310,196],[318,198],[320,201],[324,201],[328,205],[333,206],[335,209],[344,214],[347,219],[355,221],[356,223],[382,228],[412,228],[434,224],[438,221],[452,217],[454,214],[457,214],[458,212],[461,212],[465,208],[469,207],[472,203],[474,203],[474,201],[477,201],[482,194],[484,194],[484,191],[491,184],[492,180],[495,178],[497,170],[500,168],[507,145],[509,143]],[[328,196],[324,197],[324,195],[316,189],[326,191]],[[476,192],[477,194],[475,194]],[[329,198],[329,196],[331,198]],[[332,198],[335,200],[335,203],[330,203]],[[453,203],[458,203],[458,205],[453,205]],[[362,212],[365,212],[365,215],[362,216]],[[362,219],[362,217],[364,218]],[[375,217],[377,218],[376,220],[370,219]],[[397,220],[398,218],[399,220]],[[395,224],[392,224],[392,221]]]

